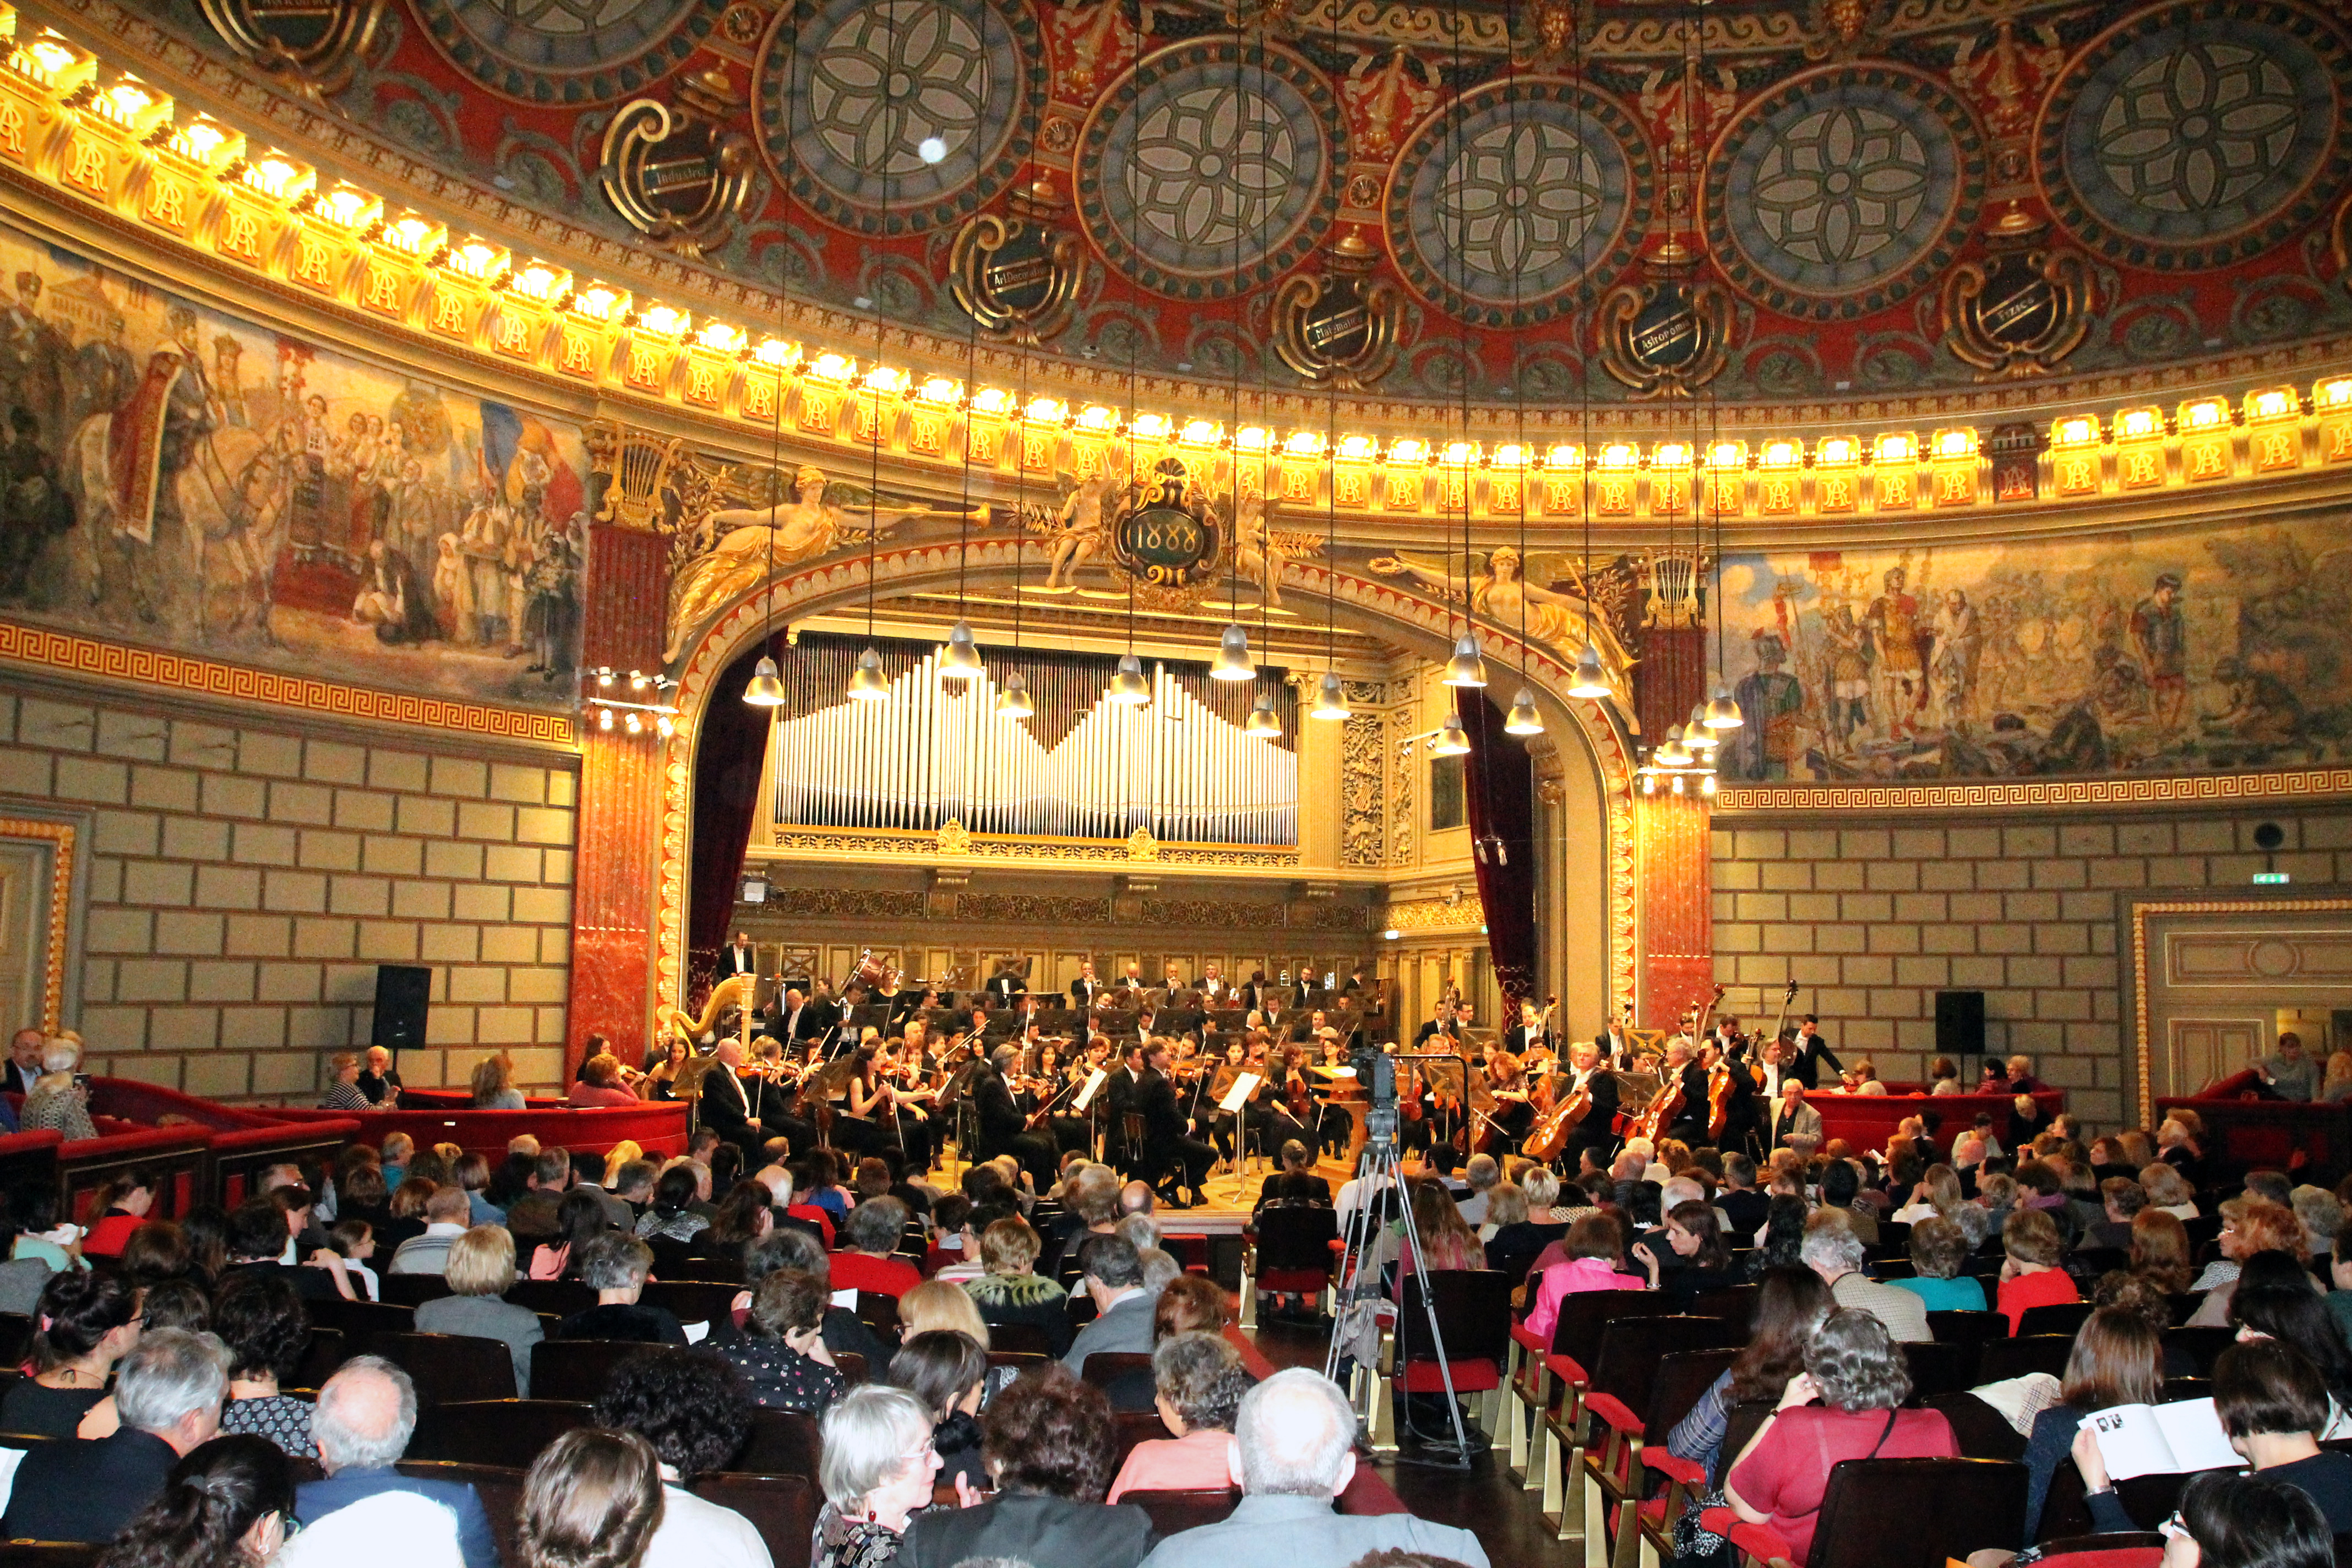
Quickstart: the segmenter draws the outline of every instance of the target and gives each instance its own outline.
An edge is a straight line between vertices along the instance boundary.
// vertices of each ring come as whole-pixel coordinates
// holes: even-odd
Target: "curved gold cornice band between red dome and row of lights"
[[[875,322],[866,315],[779,296],[739,277],[689,266],[673,256],[659,256],[621,237],[532,209],[492,186],[440,169],[416,153],[376,136],[360,120],[322,110],[228,61],[212,59],[120,0],[33,0],[19,5],[19,12],[28,21],[56,26],[85,47],[111,54],[118,61],[127,59],[136,63],[139,75],[155,87],[202,103],[223,122],[259,127],[256,134],[266,134],[287,153],[353,176],[358,183],[376,188],[393,205],[430,212],[459,228],[473,228],[550,263],[583,275],[600,275],[614,284],[654,294],[696,313],[713,310],[743,324],[809,334],[818,339],[818,350],[868,353],[875,343]],[[891,329],[889,336],[894,339],[894,357],[908,362],[917,374],[938,371],[960,376],[971,364],[971,346],[962,336],[908,329]],[[1722,430],[1729,437],[1738,437],[1762,433],[1811,435],[1816,430],[1851,433],[1856,425],[1886,428],[1905,421],[1922,425],[2046,421],[2053,414],[2107,407],[2110,402],[2171,400],[2192,390],[2237,393],[2265,378],[2298,371],[2312,374],[2326,364],[2352,364],[2352,336],[2317,339],[2274,350],[2213,355],[2209,360],[2154,369],[2086,371],[2032,383],[1987,383],[1910,397],[1804,397],[1724,404]],[[1230,386],[1211,386],[1183,376],[1148,371],[1134,376],[1112,364],[1087,364],[1056,355],[1023,355],[1009,346],[981,348],[974,374],[1000,381],[1025,374],[1033,395],[1122,407],[1136,402],[1141,407],[1192,409],[1200,407],[1207,393],[1216,395],[1218,407],[1230,407],[1237,393]],[[1324,428],[1334,414],[1334,400],[1327,390],[1272,393],[1265,388],[1240,388],[1240,404],[1244,418],[1275,428]],[[1364,395],[1343,397],[1336,402],[1336,409],[1341,423],[1381,433],[1461,433],[1463,428],[1463,409],[1437,400]],[[1486,404],[1468,411],[1468,425],[1475,440],[1517,440],[1524,430],[1529,440],[1545,444],[1583,433],[1585,416],[1571,407],[1519,411],[1510,404]],[[1677,421],[1670,409],[1656,407],[1597,409],[1592,411],[1590,430],[1595,437],[1672,437],[1677,435]]]

